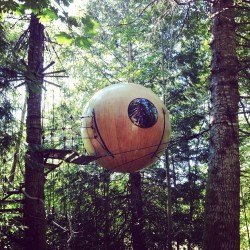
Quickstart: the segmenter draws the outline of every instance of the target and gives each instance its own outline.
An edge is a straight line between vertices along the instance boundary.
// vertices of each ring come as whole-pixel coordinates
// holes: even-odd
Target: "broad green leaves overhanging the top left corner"
[[[51,22],[61,19],[69,27],[69,31],[61,31],[56,35],[57,42],[65,45],[76,45],[77,47],[90,48],[92,45],[92,37],[97,35],[99,24],[91,16],[87,15],[82,18],[69,16],[63,7],[69,7],[73,0],[8,0],[0,2],[0,15],[4,13],[16,14],[24,16],[32,12],[37,15],[41,22]],[[62,11],[63,10],[63,11]],[[84,31],[76,32],[75,28],[82,28]]]

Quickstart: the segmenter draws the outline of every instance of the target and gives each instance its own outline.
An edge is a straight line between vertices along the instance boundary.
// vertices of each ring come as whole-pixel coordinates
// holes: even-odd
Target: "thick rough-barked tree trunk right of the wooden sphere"
[[[211,131],[203,250],[240,249],[240,163],[234,1],[212,6]]]

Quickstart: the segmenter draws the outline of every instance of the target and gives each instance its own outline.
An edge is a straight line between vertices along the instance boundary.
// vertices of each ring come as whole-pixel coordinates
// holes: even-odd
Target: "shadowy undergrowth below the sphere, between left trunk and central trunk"
[[[53,219],[65,228],[68,228],[67,217],[71,219],[73,230],[78,232],[70,242],[72,249],[100,249],[107,244],[106,237],[112,239],[109,249],[125,249],[123,237],[128,233],[125,226],[128,211],[126,198],[120,206],[119,197],[126,197],[126,176],[119,175],[109,182],[108,173],[102,169],[94,166],[87,169],[76,168],[59,173],[61,177],[57,175],[62,180],[66,178],[67,182],[57,181],[53,188]],[[53,183],[53,179],[51,181]],[[107,224],[109,228],[105,232]],[[50,229],[51,246],[55,242],[57,246],[65,245],[61,240],[63,231],[55,226]]]

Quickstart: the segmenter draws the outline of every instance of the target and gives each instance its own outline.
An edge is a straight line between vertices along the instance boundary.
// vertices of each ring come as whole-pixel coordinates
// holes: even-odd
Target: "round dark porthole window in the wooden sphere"
[[[150,128],[157,122],[158,111],[149,100],[136,98],[128,106],[128,116],[136,126]]]

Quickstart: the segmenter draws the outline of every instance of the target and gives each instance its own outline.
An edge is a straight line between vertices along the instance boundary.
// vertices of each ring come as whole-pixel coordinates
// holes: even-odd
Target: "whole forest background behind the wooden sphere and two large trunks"
[[[152,89],[171,114],[165,154],[134,174],[109,172],[95,163],[79,166],[54,160],[57,168],[45,169],[48,249],[201,249],[213,73],[211,3],[38,2],[0,3],[0,248],[22,249],[26,244],[22,212],[27,195],[27,89],[41,91],[42,148],[84,154],[85,104],[105,86],[134,82]],[[249,249],[250,5],[235,1],[234,8],[240,245]],[[45,27],[48,70],[42,90],[35,84],[27,87],[25,80],[31,12]]]

